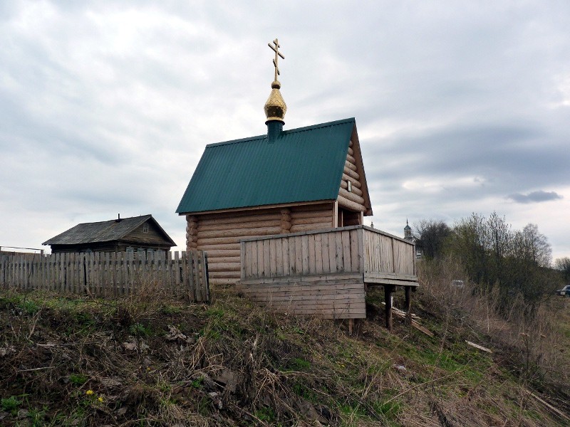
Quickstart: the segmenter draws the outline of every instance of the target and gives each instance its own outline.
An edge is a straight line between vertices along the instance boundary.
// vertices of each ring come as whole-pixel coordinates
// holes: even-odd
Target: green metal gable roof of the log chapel
[[[209,144],[178,214],[336,200],[354,118]]]

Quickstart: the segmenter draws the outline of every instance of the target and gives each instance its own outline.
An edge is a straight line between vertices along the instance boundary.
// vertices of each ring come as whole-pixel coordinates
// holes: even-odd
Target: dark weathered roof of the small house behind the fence
[[[148,220],[155,223],[155,226],[164,233],[165,239],[176,246],[170,236],[162,229],[152,215],[132,216],[130,218],[120,218],[120,221],[100,221],[95,223],[81,223],[75,227],[64,231],[42,245],[76,245],[78,243],[102,243],[108,241],[118,241],[123,239],[131,231],[135,230]]]

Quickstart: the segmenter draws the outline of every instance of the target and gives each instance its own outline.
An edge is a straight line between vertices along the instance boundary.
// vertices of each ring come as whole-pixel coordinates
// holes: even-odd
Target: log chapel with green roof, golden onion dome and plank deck
[[[372,206],[354,118],[283,130],[270,47],[267,133],[207,145],[177,208],[187,249],[207,251],[212,285],[239,282],[289,312],[364,317],[365,278],[389,292],[417,285],[413,244],[363,226]]]

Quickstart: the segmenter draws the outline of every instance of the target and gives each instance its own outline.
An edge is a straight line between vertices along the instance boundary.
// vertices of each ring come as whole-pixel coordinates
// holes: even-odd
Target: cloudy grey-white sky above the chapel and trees
[[[175,214],[206,144],[356,117],[376,228],[472,212],[570,256],[570,2],[3,1],[0,246]]]

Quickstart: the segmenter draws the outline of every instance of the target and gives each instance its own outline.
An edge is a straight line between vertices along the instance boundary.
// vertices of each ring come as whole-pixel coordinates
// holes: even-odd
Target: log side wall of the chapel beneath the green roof
[[[187,249],[207,251],[212,285],[234,285],[243,238],[331,228],[332,223],[332,203],[188,215]]]

